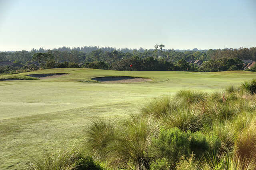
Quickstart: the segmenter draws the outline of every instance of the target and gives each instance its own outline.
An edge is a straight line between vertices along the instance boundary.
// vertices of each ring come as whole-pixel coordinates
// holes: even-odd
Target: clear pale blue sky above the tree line
[[[256,46],[256,0],[0,0],[0,51]]]

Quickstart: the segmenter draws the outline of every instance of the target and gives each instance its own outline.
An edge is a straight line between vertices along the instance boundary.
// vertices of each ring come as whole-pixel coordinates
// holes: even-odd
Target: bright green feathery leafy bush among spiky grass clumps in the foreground
[[[180,160],[180,156],[188,156],[195,153],[195,158],[200,158],[205,153],[213,152],[212,149],[218,150],[218,148],[211,147],[210,140],[207,139],[201,132],[191,133],[183,132],[178,128],[160,130],[158,138],[153,138],[152,146],[150,148],[152,158],[156,159],[154,166],[159,165],[165,158],[171,168],[176,166],[176,163]],[[218,143],[215,140],[213,143]],[[214,144],[217,146],[217,144]],[[159,162],[160,161],[160,162]]]

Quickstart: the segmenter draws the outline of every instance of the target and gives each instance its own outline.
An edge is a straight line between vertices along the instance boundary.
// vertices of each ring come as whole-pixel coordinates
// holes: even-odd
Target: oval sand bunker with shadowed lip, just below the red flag
[[[135,78],[129,76],[120,76],[120,77],[96,77],[92,80],[97,80],[104,83],[136,83],[136,82],[150,82],[151,79],[148,78]]]

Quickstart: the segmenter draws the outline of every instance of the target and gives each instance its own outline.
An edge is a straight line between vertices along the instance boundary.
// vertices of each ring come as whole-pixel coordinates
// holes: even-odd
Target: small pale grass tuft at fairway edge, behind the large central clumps
[[[196,92],[192,90],[180,90],[176,94],[176,98],[182,98],[186,102],[196,103],[203,101],[207,94],[204,92]]]

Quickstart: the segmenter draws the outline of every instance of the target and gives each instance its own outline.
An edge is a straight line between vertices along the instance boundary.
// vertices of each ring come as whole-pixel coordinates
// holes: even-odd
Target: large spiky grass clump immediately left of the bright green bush
[[[148,169],[148,148],[152,137],[158,133],[159,125],[160,122],[154,116],[132,115],[124,122],[115,143],[108,147],[110,165],[127,167],[127,162],[130,162],[136,170]]]

